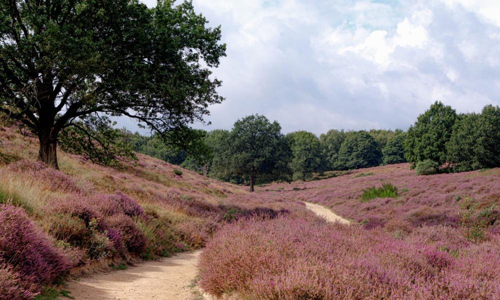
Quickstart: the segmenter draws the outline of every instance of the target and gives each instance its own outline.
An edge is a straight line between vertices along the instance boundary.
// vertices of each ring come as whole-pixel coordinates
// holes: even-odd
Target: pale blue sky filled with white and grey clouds
[[[155,0],[143,0],[148,6]],[[252,113],[284,133],[406,129],[434,101],[500,104],[500,0],[193,0],[221,25],[226,98],[206,130]],[[130,120],[119,125],[131,130]],[[140,131],[140,130],[139,130]]]

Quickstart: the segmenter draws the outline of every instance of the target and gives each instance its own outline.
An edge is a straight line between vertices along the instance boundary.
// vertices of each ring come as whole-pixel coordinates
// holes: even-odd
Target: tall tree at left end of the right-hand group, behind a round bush
[[[456,112],[451,106],[435,102],[410,126],[403,142],[404,157],[413,165],[430,159],[438,165],[446,162],[446,142],[451,136]]]

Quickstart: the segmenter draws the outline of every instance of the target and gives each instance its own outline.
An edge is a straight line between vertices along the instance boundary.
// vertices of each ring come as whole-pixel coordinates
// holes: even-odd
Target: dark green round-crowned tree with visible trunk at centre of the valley
[[[227,170],[233,176],[248,178],[250,191],[259,176],[285,175],[289,146],[281,134],[281,126],[258,114],[238,119],[229,135]]]

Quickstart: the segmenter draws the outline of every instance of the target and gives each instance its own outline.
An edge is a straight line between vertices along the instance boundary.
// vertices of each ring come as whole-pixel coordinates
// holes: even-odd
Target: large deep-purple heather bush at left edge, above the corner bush
[[[0,259],[8,261],[22,276],[50,283],[72,265],[63,251],[38,229],[22,208],[0,205]]]

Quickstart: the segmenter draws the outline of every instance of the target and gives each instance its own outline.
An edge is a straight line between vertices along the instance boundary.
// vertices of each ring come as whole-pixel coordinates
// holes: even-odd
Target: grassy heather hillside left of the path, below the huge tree
[[[8,228],[0,233],[2,299],[31,298],[100,258],[199,248],[227,221],[287,206],[239,205],[247,197],[241,187],[142,154],[115,169],[61,152],[54,170],[34,160],[37,139],[5,127],[0,140],[0,226]]]

